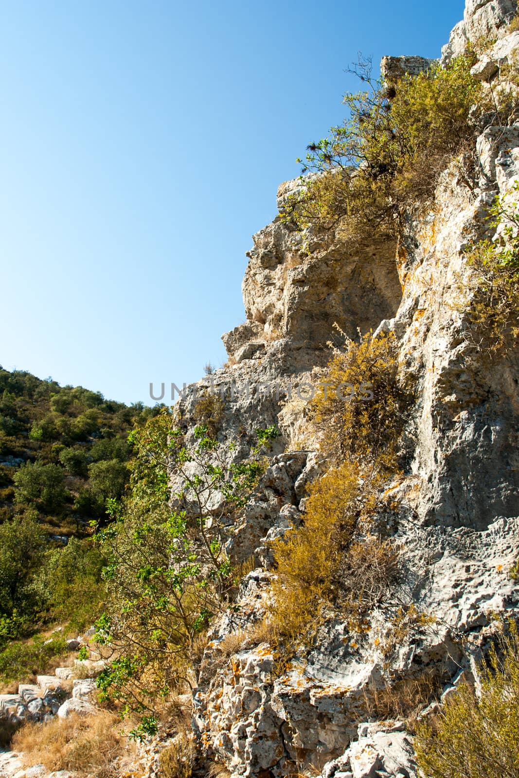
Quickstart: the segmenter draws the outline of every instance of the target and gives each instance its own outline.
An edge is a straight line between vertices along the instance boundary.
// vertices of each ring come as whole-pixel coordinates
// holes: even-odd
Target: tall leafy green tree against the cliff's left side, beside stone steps
[[[192,678],[198,636],[233,587],[226,527],[264,467],[258,451],[226,465],[207,427],[188,440],[172,422],[163,410],[130,436],[131,491],[97,536],[109,560],[97,639],[117,651],[98,685],[141,713]],[[168,468],[181,485],[174,495]]]

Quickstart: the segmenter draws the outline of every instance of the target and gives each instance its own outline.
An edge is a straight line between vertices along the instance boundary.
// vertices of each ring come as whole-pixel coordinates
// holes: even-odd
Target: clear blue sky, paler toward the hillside
[[[439,56],[463,5],[0,2],[0,364],[127,402],[219,366],[344,68]]]

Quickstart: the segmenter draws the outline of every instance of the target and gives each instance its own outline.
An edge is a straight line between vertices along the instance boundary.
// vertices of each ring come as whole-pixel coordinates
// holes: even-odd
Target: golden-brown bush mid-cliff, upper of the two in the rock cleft
[[[395,336],[369,333],[337,352],[310,413],[321,449],[382,474],[398,464],[398,440],[412,393],[398,377]]]

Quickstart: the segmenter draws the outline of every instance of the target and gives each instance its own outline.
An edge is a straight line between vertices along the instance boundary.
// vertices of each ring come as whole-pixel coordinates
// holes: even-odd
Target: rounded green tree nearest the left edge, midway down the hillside
[[[59,510],[65,500],[63,471],[58,464],[39,461],[20,465],[13,481],[17,503],[37,505],[44,510]]]

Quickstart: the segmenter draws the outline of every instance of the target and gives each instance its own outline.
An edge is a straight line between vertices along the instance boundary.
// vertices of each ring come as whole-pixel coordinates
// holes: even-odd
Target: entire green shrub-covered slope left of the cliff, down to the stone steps
[[[107,500],[121,499],[128,434],[156,412],[0,368],[0,682],[30,676],[42,654],[10,641],[96,614],[105,560],[90,524],[106,522]],[[63,648],[58,641],[54,653]]]

